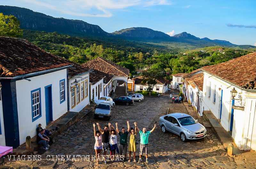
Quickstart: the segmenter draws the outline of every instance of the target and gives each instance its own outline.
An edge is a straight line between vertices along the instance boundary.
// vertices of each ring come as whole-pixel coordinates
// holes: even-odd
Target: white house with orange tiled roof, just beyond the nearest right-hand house
[[[183,97],[200,116],[203,115],[201,111],[203,80],[204,74],[198,69],[184,76],[183,84]]]

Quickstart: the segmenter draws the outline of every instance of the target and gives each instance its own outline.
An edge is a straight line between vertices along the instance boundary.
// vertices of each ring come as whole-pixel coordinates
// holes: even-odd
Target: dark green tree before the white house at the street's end
[[[148,86],[147,91],[149,92],[149,96],[151,96],[151,92],[154,86],[156,85],[156,79],[160,77],[161,74],[159,73],[158,70],[152,70],[152,69],[142,71],[141,74],[143,77],[141,84]]]

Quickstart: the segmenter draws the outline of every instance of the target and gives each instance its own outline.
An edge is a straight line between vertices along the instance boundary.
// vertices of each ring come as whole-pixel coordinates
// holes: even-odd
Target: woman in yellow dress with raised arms
[[[137,124],[136,122],[134,122],[135,124],[135,129],[131,128],[130,129],[130,143],[129,143],[129,147],[128,147],[128,151],[129,151],[129,160],[128,162],[131,161],[131,155],[133,152],[133,162],[136,163],[136,159],[135,159],[135,151],[137,150],[137,146],[136,146],[136,135],[137,135]],[[130,127],[130,125],[129,125]]]

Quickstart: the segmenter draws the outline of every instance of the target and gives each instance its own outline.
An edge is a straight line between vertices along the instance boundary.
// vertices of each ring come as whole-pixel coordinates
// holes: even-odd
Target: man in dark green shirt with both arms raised
[[[129,134],[130,131],[130,125],[129,125],[129,121],[127,122],[127,131],[125,132],[125,128],[122,128],[122,132],[119,132],[118,127],[117,127],[117,123],[116,123],[116,131],[120,136],[120,144],[119,144],[119,154],[120,156],[123,154],[124,152],[124,161],[126,160],[126,154],[127,154],[127,136]]]

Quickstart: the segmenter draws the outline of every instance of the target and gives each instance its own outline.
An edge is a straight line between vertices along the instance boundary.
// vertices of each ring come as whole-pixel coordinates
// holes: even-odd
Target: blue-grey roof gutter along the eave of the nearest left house
[[[34,76],[42,75],[42,74],[45,74],[45,73],[51,73],[51,72],[54,72],[54,71],[58,71],[58,70],[62,70],[62,69],[67,69],[67,68],[69,68],[71,66],[72,65],[64,66],[64,67],[60,67],[60,68],[49,69],[49,70],[43,70],[43,71],[29,73],[29,74],[15,76],[15,77],[0,77],[0,80],[1,79],[20,80],[20,79],[22,79],[24,77],[34,77]]]

